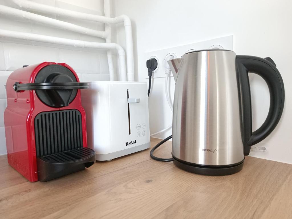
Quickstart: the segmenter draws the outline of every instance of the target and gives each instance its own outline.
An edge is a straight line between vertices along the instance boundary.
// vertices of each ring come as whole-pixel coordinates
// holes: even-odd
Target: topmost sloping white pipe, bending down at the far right
[[[134,81],[134,55],[133,55],[133,36],[131,28],[131,20],[126,15],[120,15],[115,18],[108,18],[100,15],[86,14],[77,11],[71,11],[54,6],[39,4],[27,0],[12,0],[20,8],[25,8],[33,11],[39,11],[42,13],[51,13],[66,16],[69,18],[77,18],[82,20],[91,20],[96,22],[102,22],[105,24],[117,24],[124,22],[125,35],[126,35],[126,52],[127,52],[127,65],[128,65],[128,81]]]

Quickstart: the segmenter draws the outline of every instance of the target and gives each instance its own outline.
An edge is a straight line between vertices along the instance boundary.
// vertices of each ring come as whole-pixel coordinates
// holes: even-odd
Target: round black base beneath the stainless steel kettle
[[[173,157],[173,163],[180,169],[191,173],[197,173],[201,175],[212,175],[212,176],[222,176],[231,175],[241,171],[244,163],[244,159],[237,164],[224,165],[224,166],[213,166],[213,165],[200,165],[192,164],[186,161],[182,161]]]

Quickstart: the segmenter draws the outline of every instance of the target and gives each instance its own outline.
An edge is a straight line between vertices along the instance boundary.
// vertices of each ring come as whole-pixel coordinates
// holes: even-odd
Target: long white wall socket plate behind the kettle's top
[[[227,50],[233,50],[233,36],[224,36],[217,39],[210,39],[198,43],[187,44],[183,46],[176,46],[172,48],[161,49],[157,51],[151,51],[145,53],[145,62],[150,57],[155,56],[158,58],[159,66],[158,69],[155,70],[152,74],[152,78],[161,78],[165,77],[165,69],[164,69],[164,58],[169,53],[174,53],[176,57],[180,58],[183,54],[185,54],[188,50],[201,50],[214,48],[215,45],[219,45],[218,48],[223,48]],[[145,68],[145,78],[148,77],[148,70]],[[172,76],[172,75],[171,75]]]

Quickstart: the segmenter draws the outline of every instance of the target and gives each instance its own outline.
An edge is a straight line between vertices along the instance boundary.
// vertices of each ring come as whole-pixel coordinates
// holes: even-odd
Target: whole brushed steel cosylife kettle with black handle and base
[[[175,79],[172,156],[176,166],[205,175],[229,175],[243,167],[251,146],[276,127],[284,84],[270,58],[201,50],[168,61]],[[265,79],[270,109],[252,132],[248,72]]]

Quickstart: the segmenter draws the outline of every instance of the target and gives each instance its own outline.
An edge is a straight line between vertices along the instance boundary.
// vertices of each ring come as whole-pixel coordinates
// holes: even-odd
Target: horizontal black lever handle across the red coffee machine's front
[[[29,90],[75,90],[75,89],[88,89],[86,82],[54,82],[54,83],[26,83],[21,84],[16,82],[13,84],[13,89],[16,92],[29,91]]]

